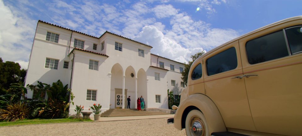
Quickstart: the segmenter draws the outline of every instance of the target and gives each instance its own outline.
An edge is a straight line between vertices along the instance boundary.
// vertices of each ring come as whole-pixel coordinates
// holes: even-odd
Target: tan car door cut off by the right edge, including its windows
[[[243,77],[258,132],[301,135],[302,22],[239,40]]]

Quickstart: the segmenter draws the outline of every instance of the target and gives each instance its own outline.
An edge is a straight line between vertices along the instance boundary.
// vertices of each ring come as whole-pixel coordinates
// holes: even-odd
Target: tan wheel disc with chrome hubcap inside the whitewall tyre
[[[194,136],[204,135],[204,124],[198,117],[192,117],[190,120],[190,132]]]

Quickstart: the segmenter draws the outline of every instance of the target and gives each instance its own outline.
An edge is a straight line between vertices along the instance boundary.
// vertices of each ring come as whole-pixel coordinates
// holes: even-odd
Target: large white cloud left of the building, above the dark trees
[[[3,61],[28,63],[36,21],[12,12],[0,1],[0,54]],[[27,68],[22,67],[22,68]]]

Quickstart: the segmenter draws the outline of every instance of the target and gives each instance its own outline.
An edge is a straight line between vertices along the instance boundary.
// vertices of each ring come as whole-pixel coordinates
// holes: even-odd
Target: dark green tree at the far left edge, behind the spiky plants
[[[12,83],[24,85],[25,76],[26,70],[21,69],[19,63],[13,61],[3,62],[0,57],[0,95],[5,94]]]

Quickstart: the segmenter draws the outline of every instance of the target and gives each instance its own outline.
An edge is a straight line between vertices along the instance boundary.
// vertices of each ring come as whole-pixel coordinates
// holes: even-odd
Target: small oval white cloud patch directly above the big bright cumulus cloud
[[[152,11],[157,18],[166,18],[178,13],[178,10],[172,5],[157,5],[152,8]]]

